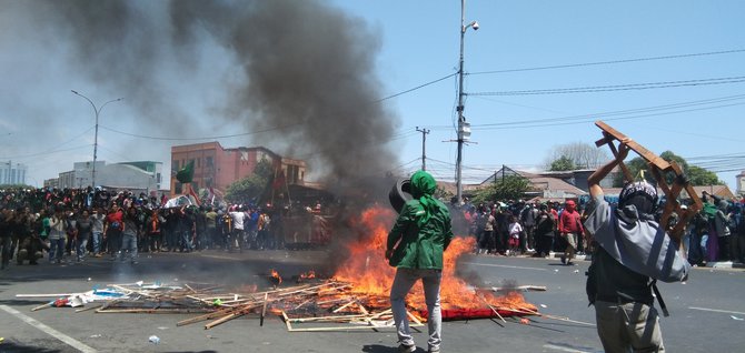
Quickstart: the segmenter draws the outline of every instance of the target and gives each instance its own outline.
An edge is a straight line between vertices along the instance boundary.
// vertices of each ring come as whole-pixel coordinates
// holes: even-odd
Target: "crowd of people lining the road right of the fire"
[[[683,236],[687,259],[694,265],[709,261],[745,263],[745,200],[724,200],[703,193],[704,209],[688,222]],[[477,254],[532,255],[559,253],[564,264],[576,254],[592,253],[583,228],[586,204],[559,202],[496,201],[464,206],[468,232],[476,239]],[[685,208],[685,205],[684,205]],[[657,216],[663,208],[657,208]],[[672,218],[669,226],[675,225]]]

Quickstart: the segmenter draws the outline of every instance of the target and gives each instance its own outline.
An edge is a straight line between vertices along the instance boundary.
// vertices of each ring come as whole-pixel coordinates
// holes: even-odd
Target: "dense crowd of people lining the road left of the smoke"
[[[245,205],[181,205],[167,199],[78,189],[0,191],[2,269],[81,262],[86,258],[138,263],[139,253],[279,249],[281,214]]]

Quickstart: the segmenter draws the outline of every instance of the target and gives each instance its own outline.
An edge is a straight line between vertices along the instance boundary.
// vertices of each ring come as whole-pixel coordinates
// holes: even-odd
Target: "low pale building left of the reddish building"
[[[105,189],[127,189],[130,191],[160,190],[162,183],[162,162],[136,161],[106,164],[96,162],[96,184]],[[92,182],[92,162],[76,162],[72,170],[59,173],[57,188],[80,189]],[[48,183],[49,182],[49,183]],[[53,182],[44,181],[44,185]]]

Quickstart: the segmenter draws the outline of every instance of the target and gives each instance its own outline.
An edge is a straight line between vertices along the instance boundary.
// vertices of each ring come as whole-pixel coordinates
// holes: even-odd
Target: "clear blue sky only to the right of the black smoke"
[[[387,93],[457,72],[459,1],[336,3],[380,31],[384,44],[378,70]],[[477,20],[480,27],[466,32],[465,72],[511,72],[467,74],[464,91],[742,78],[743,13],[742,1],[470,0],[466,2],[466,23]],[[683,57],[733,50],[737,52]],[[679,58],[520,71],[660,57]],[[745,83],[738,82],[592,93],[467,95],[465,115],[473,124],[471,140],[478,144],[465,148],[464,179],[480,181],[501,164],[540,168],[555,145],[599,139],[599,130],[593,124],[596,119],[605,120],[656,153],[672,150],[684,158],[735,153],[741,157],[734,160],[738,163],[716,170],[745,170],[745,100],[739,97],[744,92]],[[736,95],[733,100],[687,108],[599,115]],[[386,101],[401,117],[399,130],[411,132],[401,150],[401,163],[414,162],[404,169],[420,165],[415,161],[421,153],[421,134],[415,131],[418,125],[431,130],[427,155],[437,161],[429,161],[428,167],[440,179],[454,178],[456,144],[441,141],[455,139],[456,99],[457,81],[453,77]],[[563,122],[576,123],[559,124]],[[734,189],[738,172],[718,175]]]

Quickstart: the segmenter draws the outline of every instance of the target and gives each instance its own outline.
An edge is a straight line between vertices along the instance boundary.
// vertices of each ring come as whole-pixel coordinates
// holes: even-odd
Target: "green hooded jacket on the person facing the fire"
[[[427,172],[411,175],[411,195],[388,233],[387,249],[394,249],[391,266],[405,269],[443,269],[443,252],[453,240],[450,212],[433,198],[437,189]],[[398,245],[396,245],[398,244]]]

